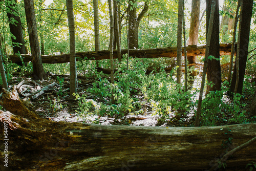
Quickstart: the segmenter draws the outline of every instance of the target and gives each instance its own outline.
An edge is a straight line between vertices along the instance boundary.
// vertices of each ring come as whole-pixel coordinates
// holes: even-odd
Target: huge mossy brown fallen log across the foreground
[[[8,166],[1,170],[208,169],[226,150],[249,141],[256,133],[255,123],[144,127],[54,122],[33,111],[27,115],[24,111],[28,109],[17,95],[15,90],[4,91],[2,99],[12,113],[0,111],[0,137],[4,140],[0,157],[7,156],[4,164]],[[12,103],[19,110],[10,109]],[[225,162],[227,167],[243,166],[255,161],[255,154],[254,143]]]

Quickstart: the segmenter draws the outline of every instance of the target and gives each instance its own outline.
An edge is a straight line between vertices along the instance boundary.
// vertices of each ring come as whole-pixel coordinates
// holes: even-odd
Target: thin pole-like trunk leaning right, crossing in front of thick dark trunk
[[[217,3],[218,4],[218,3]],[[199,119],[201,115],[201,108],[202,108],[202,99],[203,99],[203,92],[204,92],[204,83],[205,83],[205,76],[208,68],[208,56],[210,53],[210,45],[211,45],[211,39],[214,32],[214,19],[215,19],[215,11],[216,11],[216,2],[213,1],[210,3],[210,16],[208,21],[208,32],[206,36],[206,50],[205,50],[205,58],[204,58],[204,68],[203,68],[203,75],[202,75],[202,82],[201,82],[201,88],[199,93],[199,99],[198,99],[198,106],[197,106],[197,116],[196,116],[196,123],[195,126],[199,126]],[[209,4],[208,4],[209,5]]]

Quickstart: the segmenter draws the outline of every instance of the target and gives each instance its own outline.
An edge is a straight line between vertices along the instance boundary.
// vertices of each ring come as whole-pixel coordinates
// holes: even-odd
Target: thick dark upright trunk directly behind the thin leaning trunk
[[[210,11],[212,0],[206,1],[206,35],[208,33]],[[220,24],[219,24],[219,1],[216,1],[215,16],[214,16],[214,29],[211,35],[209,56],[212,55],[220,59]],[[207,92],[221,90],[221,66],[220,60],[212,59],[208,61],[207,66]],[[212,86],[213,83],[213,86]]]

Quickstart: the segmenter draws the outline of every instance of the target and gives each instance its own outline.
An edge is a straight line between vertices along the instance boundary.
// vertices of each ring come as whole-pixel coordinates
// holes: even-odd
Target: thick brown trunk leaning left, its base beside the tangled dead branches
[[[32,54],[34,79],[44,80],[47,78],[42,66],[41,53],[36,28],[36,18],[33,0],[24,0],[26,20],[28,24],[30,50]]]

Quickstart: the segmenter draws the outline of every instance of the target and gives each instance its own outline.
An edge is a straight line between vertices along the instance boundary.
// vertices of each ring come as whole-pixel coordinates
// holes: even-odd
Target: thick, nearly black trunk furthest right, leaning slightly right
[[[239,61],[236,60],[236,63],[239,62],[239,80],[238,80],[237,93],[240,93],[240,94],[242,94],[242,91],[243,91],[244,74],[245,74],[245,67],[246,67],[247,55],[248,55],[253,0],[247,0],[247,1],[243,0],[242,4],[243,4],[243,7],[241,7],[242,16],[240,16],[241,23],[239,24],[241,25],[241,28],[239,29],[239,32],[241,32]],[[236,87],[236,78],[237,78],[236,63],[234,65],[232,80],[230,84],[231,92],[234,92],[234,89]]]

